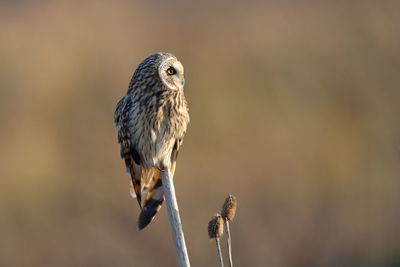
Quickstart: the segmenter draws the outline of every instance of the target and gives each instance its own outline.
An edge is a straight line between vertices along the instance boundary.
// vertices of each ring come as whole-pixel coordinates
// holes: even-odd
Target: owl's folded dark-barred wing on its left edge
[[[140,155],[134,147],[130,130],[129,118],[132,101],[128,96],[123,97],[117,104],[114,113],[114,122],[118,129],[118,143],[121,145],[121,158],[125,160],[126,169],[132,179],[132,187],[136,194],[139,206],[142,207],[141,196],[141,176],[142,167],[140,164]]]

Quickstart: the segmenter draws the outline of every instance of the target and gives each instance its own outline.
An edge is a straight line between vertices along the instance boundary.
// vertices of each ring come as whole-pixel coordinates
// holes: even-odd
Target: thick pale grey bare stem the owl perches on
[[[175,187],[169,170],[161,172],[169,222],[171,224],[172,238],[174,239],[176,256],[180,267],[190,267],[189,256],[183,235],[181,218],[179,216],[178,203],[176,201]]]

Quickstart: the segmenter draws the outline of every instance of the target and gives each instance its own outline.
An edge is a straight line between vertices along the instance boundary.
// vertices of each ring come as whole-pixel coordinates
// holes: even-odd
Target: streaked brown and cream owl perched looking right
[[[141,208],[138,230],[153,220],[164,201],[161,171],[175,172],[189,123],[184,85],[184,69],[174,55],[151,55],[136,68],[115,110],[121,158]]]

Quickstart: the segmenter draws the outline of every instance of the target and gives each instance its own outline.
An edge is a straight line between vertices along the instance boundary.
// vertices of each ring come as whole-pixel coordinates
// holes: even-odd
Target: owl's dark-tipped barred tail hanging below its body
[[[146,195],[146,201],[139,215],[137,230],[145,228],[156,216],[164,202],[164,190],[161,178],[159,177],[152,188]]]

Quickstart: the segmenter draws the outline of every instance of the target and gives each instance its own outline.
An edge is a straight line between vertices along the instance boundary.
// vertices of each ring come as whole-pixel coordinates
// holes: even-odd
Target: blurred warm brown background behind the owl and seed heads
[[[165,207],[135,231],[113,124],[157,51],[186,70],[193,266],[217,266],[207,223],[228,193],[236,266],[400,266],[399,8],[1,1],[0,266],[176,266]]]

